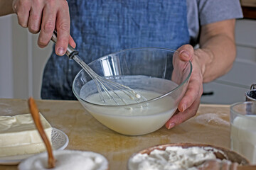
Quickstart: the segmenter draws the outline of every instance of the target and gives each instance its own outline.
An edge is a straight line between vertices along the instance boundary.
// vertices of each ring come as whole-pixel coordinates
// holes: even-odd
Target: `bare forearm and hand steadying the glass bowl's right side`
[[[166,123],[166,128],[173,128],[196,115],[203,83],[217,79],[227,73],[235,60],[235,20],[210,23],[201,27],[200,48],[193,50],[191,45],[178,49],[180,60],[191,60],[193,71],[188,82],[185,96],[178,104],[176,114]]]

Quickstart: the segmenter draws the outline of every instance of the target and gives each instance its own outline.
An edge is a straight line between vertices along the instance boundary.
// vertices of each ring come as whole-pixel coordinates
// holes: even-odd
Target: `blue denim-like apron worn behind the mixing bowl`
[[[176,50],[188,44],[186,0],[68,0],[70,35],[87,64],[133,47]],[[43,73],[41,98],[73,100],[72,83],[81,67],[53,53]]]

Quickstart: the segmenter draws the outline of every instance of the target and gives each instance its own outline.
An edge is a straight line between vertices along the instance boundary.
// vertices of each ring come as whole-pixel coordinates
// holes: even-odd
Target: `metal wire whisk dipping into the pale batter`
[[[57,42],[57,33],[55,31],[53,32],[51,40],[53,40],[53,42],[55,43]],[[124,86],[123,84],[111,81],[110,79],[100,77],[87,64],[85,64],[85,62],[80,59],[80,57],[78,56],[78,51],[74,50],[73,47],[71,47],[70,45],[68,45],[68,49],[65,52],[65,55],[68,55],[70,59],[73,59],[75,60],[75,62],[80,64],[82,69],[84,69],[85,72],[87,72],[87,74],[89,74],[89,76],[95,81],[97,91],[103,103],[106,103],[108,98],[110,100],[113,100],[114,103],[116,103],[117,105],[127,104],[124,98],[117,94],[117,90],[122,91],[122,93],[127,95],[132,101],[135,101],[136,103],[139,103],[139,101],[146,101],[146,98],[144,98],[144,96],[137,93],[137,91],[129,88],[129,86]],[[107,96],[107,98],[105,96]],[[117,98],[119,100],[117,100]],[[122,103],[119,103],[118,101],[122,101]]]

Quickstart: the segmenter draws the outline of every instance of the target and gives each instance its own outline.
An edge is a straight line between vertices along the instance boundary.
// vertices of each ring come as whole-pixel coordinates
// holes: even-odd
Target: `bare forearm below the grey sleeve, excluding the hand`
[[[230,24],[232,21],[223,23],[225,30],[220,33],[207,33],[206,39],[203,39],[201,48],[195,50],[195,60],[201,63],[203,82],[213,81],[223,74],[227,73],[233,66],[235,60],[235,38],[233,35],[234,28],[228,29],[225,24]],[[235,21],[232,22],[235,26]],[[230,26],[229,25],[229,26]]]

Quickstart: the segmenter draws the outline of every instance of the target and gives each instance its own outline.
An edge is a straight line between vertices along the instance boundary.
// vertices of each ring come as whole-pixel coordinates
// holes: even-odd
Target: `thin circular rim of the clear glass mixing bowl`
[[[131,51],[131,50],[143,50],[143,49],[156,49],[156,50],[167,50],[167,51],[171,51],[171,52],[178,52],[176,50],[172,50],[172,49],[169,49],[169,48],[163,48],[163,47],[137,47],[137,48],[128,48],[128,49],[125,49],[125,50],[120,50],[118,52],[113,52],[109,55],[105,55],[105,56],[102,56],[100,58],[98,58],[97,60],[93,60],[92,62],[90,62],[88,65],[94,63],[94,62],[97,62],[98,60],[102,60],[103,58],[106,58],[110,55],[116,55],[116,54],[119,54],[121,52],[126,52],[126,51]],[[166,94],[163,94],[161,96],[158,96],[156,98],[151,98],[150,100],[147,100],[147,101],[142,101],[142,102],[139,102],[139,103],[132,103],[132,104],[127,104],[127,105],[101,105],[101,104],[96,104],[96,103],[90,103],[88,101],[85,101],[84,99],[80,98],[79,95],[75,92],[75,79],[78,78],[78,76],[81,74],[82,71],[84,71],[84,69],[81,69],[78,74],[76,74],[75,78],[73,79],[73,84],[72,84],[72,90],[73,90],[73,94],[75,94],[75,96],[77,98],[80,98],[80,100],[82,101],[85,101],[85,103],[89,103],[90,105],[92,106],[100,106],[100,107],[123,107],[123,106],[136,106],[137,104],[143,104],[143,103],[149,103],[149,102],[152,102],[152,101],[156,101],[156,100],[159,100],[159,98],[164,98],[165,96],[168,96],[169,94],[173,93],[174,91],[178,90],[181,88],[181,86],[183,86],[183,84],[185,84],[186,81],[188,81],[188,79],[190,79],[191,77],[191,73],[192,73],[192,63],[191,61],[188,61],[189,63],[189,66],[190,66],[190,70],[189,70],[189,74],[188,74],[188,77],[186,77],[186,79],[184,81],[181,82],[181,84],[179,84],[178,86],[176,86],[176,88],[172,89],[171,91],[167,92]]]

